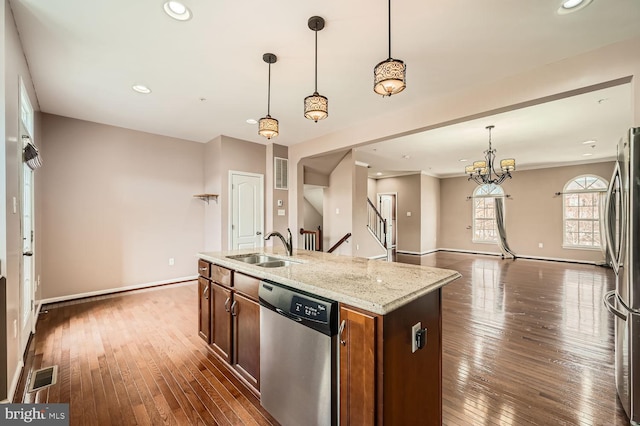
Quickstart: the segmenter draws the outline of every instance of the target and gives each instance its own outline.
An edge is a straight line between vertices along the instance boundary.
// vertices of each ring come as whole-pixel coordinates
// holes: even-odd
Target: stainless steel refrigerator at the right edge
[[[616,388],[631,424],[640,425],[640,127],[618,143],[604,230],[616,288],[604,297],[615,315]]]

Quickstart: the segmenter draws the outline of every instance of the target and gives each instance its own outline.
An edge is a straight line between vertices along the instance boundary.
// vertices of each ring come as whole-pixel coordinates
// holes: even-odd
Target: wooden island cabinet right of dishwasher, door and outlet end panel
[[[442,424],[441,290],[386,314],[340,307],[340,424]],[[427,329],[412,352],[411,328]]]

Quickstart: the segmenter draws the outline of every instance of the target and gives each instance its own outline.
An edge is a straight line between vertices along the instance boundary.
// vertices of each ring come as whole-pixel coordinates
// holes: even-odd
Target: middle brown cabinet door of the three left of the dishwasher
[[[231,290],[211,283],[211,347],[231,363]]]

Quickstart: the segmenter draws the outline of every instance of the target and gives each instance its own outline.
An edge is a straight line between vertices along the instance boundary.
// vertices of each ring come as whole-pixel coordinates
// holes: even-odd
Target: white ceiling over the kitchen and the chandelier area
[[[392,54],[407,64],[408,86],[383,99],[374,94],[372,78],[375,64],[387,57],[384,0],[185,4],[193,18],[178,22],[163,12],[163,0],[10,0],[40,109],[198,142],[223,134],[266,143],[257,125],[245,120],[266,114],[262,55],[272,52],[278,62],[272,65],[271,115],[280,120],[281,132],[274,141],[292,145],[347,129],[361,117],[383,120],[385,113],[411,107],[425,96],[437,100],[640,37],[638,0],[594,0],[567,15],[556,13],[560,0],[396,0]],[[318,91],[329,98],[329,118],[319,123],[306,120],[302,112],[304,97],[314,89],[314,33],[307,27],[314,15],[326,20],[318,34]],[[153,92],[133,92],[137,83]],[[547,152],[545,162],[556,152],[561,161],[572,161],[557,135],[567,144],[597,138],[594,154],[604,158],[611,153],[600,141],[611,136],[596,130],[605,126],[606,114],[628,106],[624,94],[614,92],[597,106],[587,96],[586,106],[530,109],[526,116],[515,112],[395,143],[420,159],[411,167],[434,175],[453,173],[453,166],[444,166],[452,158],[479,157],[486,149],[487,124],[496,125],[498,158],[514,156],[521,166],[542,162],[540,151]],[[605,108],[609,112],[601,114]],[[583,109],[593,109],[595,116],[573,115]],[[593,117],[601,126],[589,126]],[[419,153],[421,145],[431,147],[428,155]],[[378,148],[378,154],[363,150],[358,155],[370,155],[377,164],[375,155],[387,149]],[[389,155],[399,149],[393,151]],[[455,170],[463,166],[456,164]]]

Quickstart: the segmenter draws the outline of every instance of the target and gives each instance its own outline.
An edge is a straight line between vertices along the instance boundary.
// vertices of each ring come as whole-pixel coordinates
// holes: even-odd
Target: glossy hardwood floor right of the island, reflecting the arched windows
[[[610,269],[445,252],[420,262],[463,275],[443,289],[444,424],[629,424],[602,303]]]

